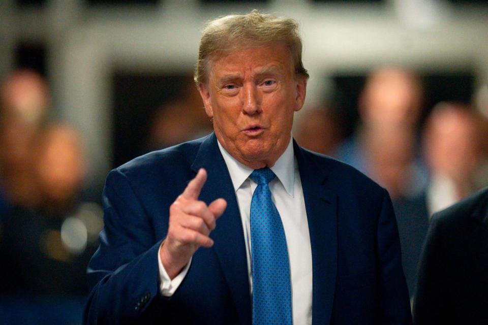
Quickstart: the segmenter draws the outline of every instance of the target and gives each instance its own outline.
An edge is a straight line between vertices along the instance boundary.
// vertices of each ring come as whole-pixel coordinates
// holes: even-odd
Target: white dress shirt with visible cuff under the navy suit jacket
[[[250,213],[251,200],[257,183],[249,178],[253,169],[239,163],[220,143],[218,144],[229,170],[239,206],[246,244],[250,294],[252,295],[253,272]],[[293,142],[291,139],[285,152],[276,161],[275,166],[270,169],[277,177],[270,181],[268,185],[272,201],[281,216],[290,259],[293,323],[312,324],[312,248],[300,174],[293,154]],[[218,220],[217,226],[219,226]],[[158,261],[161,293],[169,297],[173,295],[185,278],[191,260],[187,267],[173,280],[166,273],[159,254]]]

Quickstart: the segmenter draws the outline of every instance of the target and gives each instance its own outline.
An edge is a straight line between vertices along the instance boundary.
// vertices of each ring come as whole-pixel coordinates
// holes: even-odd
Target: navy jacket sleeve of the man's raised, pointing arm
[[[127,177],[109,173],[103,191],[105,226],[88,269],[87,324],[151,322],[167,310],[159,291],[158,251],[151,220]]]

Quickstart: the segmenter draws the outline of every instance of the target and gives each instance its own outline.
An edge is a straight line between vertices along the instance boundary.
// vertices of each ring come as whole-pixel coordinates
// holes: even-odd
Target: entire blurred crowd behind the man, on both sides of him
[[[164,104],[152,117],[148,151],[211,132],[198,92],[193,85],[185,88],[194,91]],[[328,106],[304,108],[293,131],[303,147],[345,161],[388,190],[411,297],[430,216],[488,185],[486,101],[442,102],[427,114],[423,97],[422,81],[414,73],[381,68],[371,73],[359,96],[360,122],[352,137],[344,137],[340,109]],[[43,310],[46,323],[78,322],[86,266],[103,227],[101,208],[90,202],[94,194],[84,184],[81,135],[55,121],[50,106],[47,83],[37,73],[19,70],[3,81],[0,303],[11,308],[0,310],[0,318],[10,323],[29,322],[39,297],[41,306],[65,303],[61,313],[49,316],[48,308]],[[60,299],[52,302],[55,297]],[[36,317],[31,323],[42,323]]]

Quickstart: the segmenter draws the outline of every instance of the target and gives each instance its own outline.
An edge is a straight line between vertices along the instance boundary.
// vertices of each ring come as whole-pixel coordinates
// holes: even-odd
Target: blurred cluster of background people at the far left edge
[[[29,70],[8,76],[0,89],[0,322],[79,323],[103,228],[100,206],[85,200],[85,171],[80,134],[50,118],[46,81]]]

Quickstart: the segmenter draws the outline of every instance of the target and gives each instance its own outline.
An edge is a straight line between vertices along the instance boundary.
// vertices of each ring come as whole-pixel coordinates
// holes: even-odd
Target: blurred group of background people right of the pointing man
[[[481,89],[485,91],[488,89]],[[294,134],[302,146],[348,163],[385,187],[393,201],[412,298],[422,243],[434,212],[488,186],[488,102],[425,108],[413,72],[382,67],[367,78],[352,137],[330,107],[308,110]],[[423,111],[428,110],[428,112]]]

